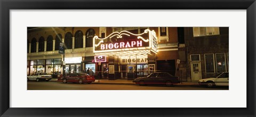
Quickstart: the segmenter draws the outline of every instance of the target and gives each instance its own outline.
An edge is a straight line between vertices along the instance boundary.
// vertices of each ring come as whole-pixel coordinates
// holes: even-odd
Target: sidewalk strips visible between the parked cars
[[[61,82],[57,79],[51,79],[51,82]],[[119,85],[135,85],[135,83],[132,82],[132,80],[127,79],[116,79],[116,80],[108,80],[108,79],[100,79],[100,82],[98,79],[95,79],[95,82],[92,82],[92,84],[119,84]],[[179,86],[199,86],[197,83],[197,80],[193,80],[191,82],[182,82],[180,84],[174,84]]]

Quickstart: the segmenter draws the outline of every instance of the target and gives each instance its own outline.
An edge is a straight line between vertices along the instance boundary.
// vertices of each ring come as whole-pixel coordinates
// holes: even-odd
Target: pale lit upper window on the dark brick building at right
[[[219,27],[193,27],[194,37],[220,34]]]

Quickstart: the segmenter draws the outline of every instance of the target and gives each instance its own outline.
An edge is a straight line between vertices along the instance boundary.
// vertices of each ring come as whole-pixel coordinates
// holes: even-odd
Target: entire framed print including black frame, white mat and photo
[[[254,0],[1,0],[0,4],[1,116],[255,116],[254,55],[256,3]],[[36,41],[33,41],[33,38],[30,39],[33,34],[28,33],[31,31],[29,28],[39,30],[44,27],[52,29],[50,33],[53,33],[54,36],[49,36],[51,35],[49,31],[43,31],[34,34]],[[54,27],[59,29],[55,30]],[[120,58],[113,57],[110,64],[101,63],[102,67],[98,68],[97,66],[99,65],[93,61],[94,55],[90,53],[90,51],[95,51],[95,48],[90,47],[92,46],[90,43],[93,43],[93,32],[97,32],[97,36],[100,37],[99,39],[108,38],[111,34],[105,33],[105,28],[98,28],[94,31],[90,30],[90,28],[88,29],[89,31],[81,29],[81,32],[79,32],[74,27],[90,27],[91,29],[95,27],[111,27],[106,29],[106,31],[118,32],[119,35],[117,35],[119,38],[121,37],[121,32],[125,32],[125,28],[130,28],[130,32],[138,31],[138,35],[139,32],[143,31],[136,29],[136,27],[155,27],[156,31],[150,32],[153,34],[149,36],[151,37],[151,41],[148,44],[148,47],[152,49],[150,50],[152,54],[149,59],[145,57],[137,58],[137,51],[148,53],[148,51],[138,49],[148,49],[148,47],[139,47],[142,45],[140,41],[129,41],[123,47],[129,49],[131,49],[131,45],[139,47],[133,49],[137,50],[136,52],[129,53],[135,55],[132,58],[135,60],[133,61],[135,64],[122,66],[116,62]],[[176,29],[171,30],[170,27],[176,27]],[[182,31],[185,33],[181,37],[178,37],[177,27],[190,28],[183,29]],[[225,28],[228,28],[228,30]],[[61,30],[64,33],[58,34],[57,30]],[[173,34],[175,31],[177,32],[177,36],[174,36],[176,33]],[[122,36],[124,35],[131,35],[131,33],[128,32]],[[155,35],[158,35],[159,40],[154,40]],[[228,39],[230,44],[228,46],[221,44],[220,47],[227,48],[229,51],[223,52],[220,51],[223,48],[220,48],[204,53],[199,53],[199,50],[191,52],[188,51],[191,48],[187,44],[182,44],[186,42],[178,40],[178,38],[183,37],[185,41],[191,42],[190,44],[192,45],[198,43],[211,44],[215,39],[213,37],[216,35],[217,37]],[[142,35],[139,36],[133,40],[144,39],[145,42],[147,41]],[[177,41],[174,42],[172,37],[176,37]],[[209,37],[207,38],[209,41],[199,41],[203,40],[204,37]],[[54,55],[52,51],[47,51],[47,49],[50,49],[58,54],[65,53],[63,51],[59,53],[60,44],[55,44],[57,41],[55,39],[65,39],[61,41],[64,43],[64,48],[69,49],[67,51],[64,49],[67,53],[83,51],[81,57],[77,58],[68,54]],[[91,41],[87,41],[86,39],[91,39]],[[47,40],[54,42],[54,44],[47,43]],[[84,43],[82,40],[86,42]],[[68,41],[70,43],[65,44]],[[102,41],[99,40],[99,42]],[[226,40],[219,41],[224,42]],[[71,44],[72,42],[78,42],[79,44]],[[118,52],[112,51],[112,48],[119,49],[117,46],[119,44],[122,45],[121,43],[117,45],[112,40],[110,42],[105,44],[105,46],[100,46],[103,49],[110,48],[108,50],[109,55],[111,55],[111,52]],[[166,43],[158,44],[161,42]],[[52,46],[47,47],[47,45],[51,44]],[[163,45],[168,46],[168,48],[165,48]],[[158,51],[156,51],[156,48],[159,48],[159,50],[162,49],[163,56],[157,55]],[[211,47],[205,48],[204,50],[207,49],[211,49]],[[183,50],[183,52],[172,53],[169,50]],[[47,53],[48,55],[40,55],[40,52]],[[164,56],[183,56],[184,59],[176,58],[168,60]],[[64,61],[62,58],[67,59]],[[174,86],[172,87],[174,90],[170,91],[78,91],[74,88],[62,91],[59,89],[47,91],[30,90],[27,85],[28,83],[36,83],[34,86],[44,83],[54,83],[47,81],[37,82],[36,79],[34,82],[28,82],[30,79],[28,77],[26,78],[26,73],[27,76],[28,74],[37,74],[36,76],[38,76],[40,73],[45,72],[50,73],[52,77],[54,75],[60,77],[62,72],[67,74],[69,72],[70,74],[82,74],[87,72],[87,68],[90,68],[97,74],[97,70],[102,69],[102,71],[108,71],[108,74],[116,76],[124,76],[126,73],[128,75],[129,72],[126,71],[131,71],[131,76],[134,77],[157,72],[161,67],[162,70],[170,69],[165,64],[174,63],[173,66],[175,66],[175,60],[177,59],[180,59],[180,65],[178,66],[179,68],[174,67],[174,73],[177,69],[177,74],[181,74],[180,69],[182,69],[182,73],[186,73],[182,78],[184,79],[186,77],[186,81],[184,82],[189,82],[189,80],[196,80],[196,83],[197,81],[199,82],[199,79],[194,77],[197,73],[200,74],[203,80],[206,75],[229,72],[231,79],[228,90],[205,91],[198,89],[195,91],[183,91],[179,90],[181,86]],[[127,61],[129,62],[128,58]],[[137,61],[142,64],[137,65]],[[143,71],[145,69],[146,71]],[[120,74],[116,74],[116,71]],[[123,73],[121,74],[121,72]],[[39,77],[36,78],[39,79]],[[58,78],[55,79],[58,80]],[[182,84],[186,84],[184,82]],[[59,83],[58,85],[63,86],[65,84]],[[71,86],[73,84],[67,85]],[[79,84],[76,86],[78,87]],[[80,86],[87,87],[92,85]],[[124,86],[119,85],[119,87]],[[219,98],[221,98],[221,100],[218,100],[219,102],[213,100]]]

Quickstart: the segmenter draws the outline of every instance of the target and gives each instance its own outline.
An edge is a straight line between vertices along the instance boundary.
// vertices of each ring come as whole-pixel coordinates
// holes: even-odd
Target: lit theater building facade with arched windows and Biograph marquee
[[[97,78],[133,80],[158,71],[177,73],[175,27],[28,28],[27,41],[28,75],[79,73],[90,68]],[[65,59],[59,53],[61,42]]]

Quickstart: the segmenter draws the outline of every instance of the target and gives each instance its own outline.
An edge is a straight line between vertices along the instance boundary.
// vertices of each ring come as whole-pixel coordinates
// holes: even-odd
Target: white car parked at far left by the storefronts
[[[52,79],[51,75],[48,75],[47,73],[34,73],[30,76],[27,76],[27,80],[36,80],[36,82],[39,82],[40,80],[45,80],[48,82]]]

